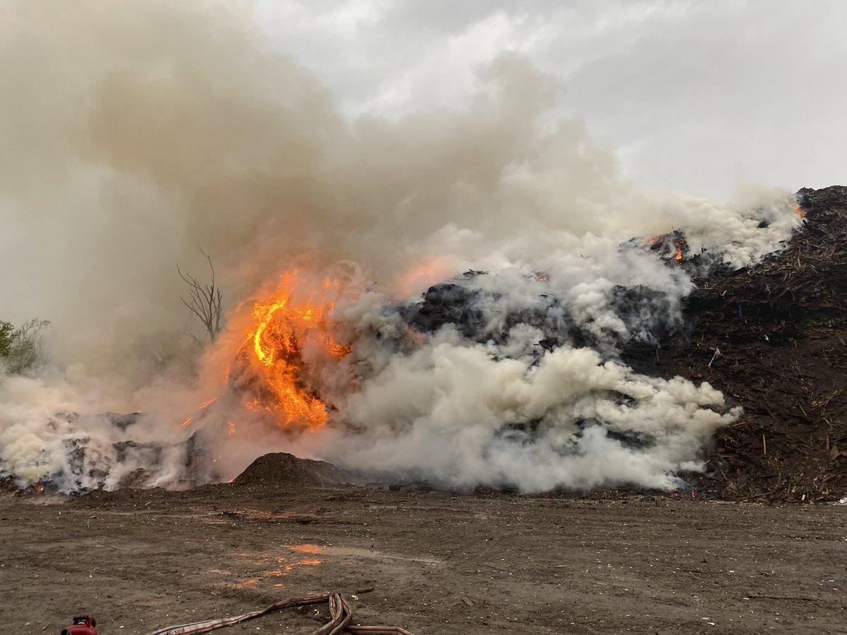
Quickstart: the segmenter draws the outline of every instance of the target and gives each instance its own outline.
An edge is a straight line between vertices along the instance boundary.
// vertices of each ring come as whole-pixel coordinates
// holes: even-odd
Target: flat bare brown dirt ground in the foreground
[[[847,505],[207,485],[0,498],[0,630],[339,592],[424,633],[847,632]],[[325,605],[219,632],[311,632]]]

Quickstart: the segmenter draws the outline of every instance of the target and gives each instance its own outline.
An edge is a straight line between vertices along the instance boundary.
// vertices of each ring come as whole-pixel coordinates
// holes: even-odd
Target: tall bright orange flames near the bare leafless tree
[[[297,273],[283,276],[280,289],[252,310],[252,326],[238,358],[262,380],[259,394],[245,407],[275,417],[283,428],[301,426],[310,430],[326,424],[326,405],[315,394],[303,356],[310,361],[339,360],[350,349],[329,334],[329,314],[335,302],[329,300],[338,290],[332,279],[324,279],[321,289],[302,300],[295,294]],[[235,427],[230,428],[234,432]]]

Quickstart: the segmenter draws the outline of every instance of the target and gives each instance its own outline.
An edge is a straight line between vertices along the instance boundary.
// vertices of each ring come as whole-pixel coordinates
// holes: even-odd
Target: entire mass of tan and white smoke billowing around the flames
[[[620,360],[684,329],[692,288],[627,241],[684,229],[703,271],[750,265],[800,222],[784,193],[716,207],[629,183],[508,52],[461,109],[349,121],[246,4],[0,11],[0,240],[19,272],[0,318],[54,322],[53,367],[0,382],[19,484],[174,485],[293,450],[446,484],[671,487],[737,417]],[[197,244],[229,330],[195,363],[176,264],[201,275]],[[295,268],[302,295],[342,280],[327,320],[349,348],[303,346],[298,380],[330,407],[306,434],[246,410],[255,381],[227,375],[252,301]]]

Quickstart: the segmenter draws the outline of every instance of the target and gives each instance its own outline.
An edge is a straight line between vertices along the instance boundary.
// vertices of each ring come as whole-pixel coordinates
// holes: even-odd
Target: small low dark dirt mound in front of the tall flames
[[[259,456],[233,481],[234,485],[326,487],[351,483],[351,472],[326,461],[299,459],[285,452]]]

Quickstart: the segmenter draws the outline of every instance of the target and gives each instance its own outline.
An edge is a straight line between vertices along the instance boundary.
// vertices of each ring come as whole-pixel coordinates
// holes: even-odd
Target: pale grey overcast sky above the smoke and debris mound
[[[267,0],[257,19],[352,116],[457,106],[517,50],[647,184],[721,200],[847,180],[841,0]]]

